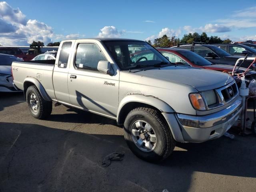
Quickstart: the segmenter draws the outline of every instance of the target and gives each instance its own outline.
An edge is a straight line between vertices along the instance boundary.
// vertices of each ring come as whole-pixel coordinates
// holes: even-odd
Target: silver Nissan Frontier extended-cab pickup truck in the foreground
[[[13,62],[12,74],[35,118],[50,115],[52,102],[112,118],[132,152],[151,162],[176,142],[219,138],[241,111],[231,76],[177,66],[139,40],[65,40],[56,60]]]

